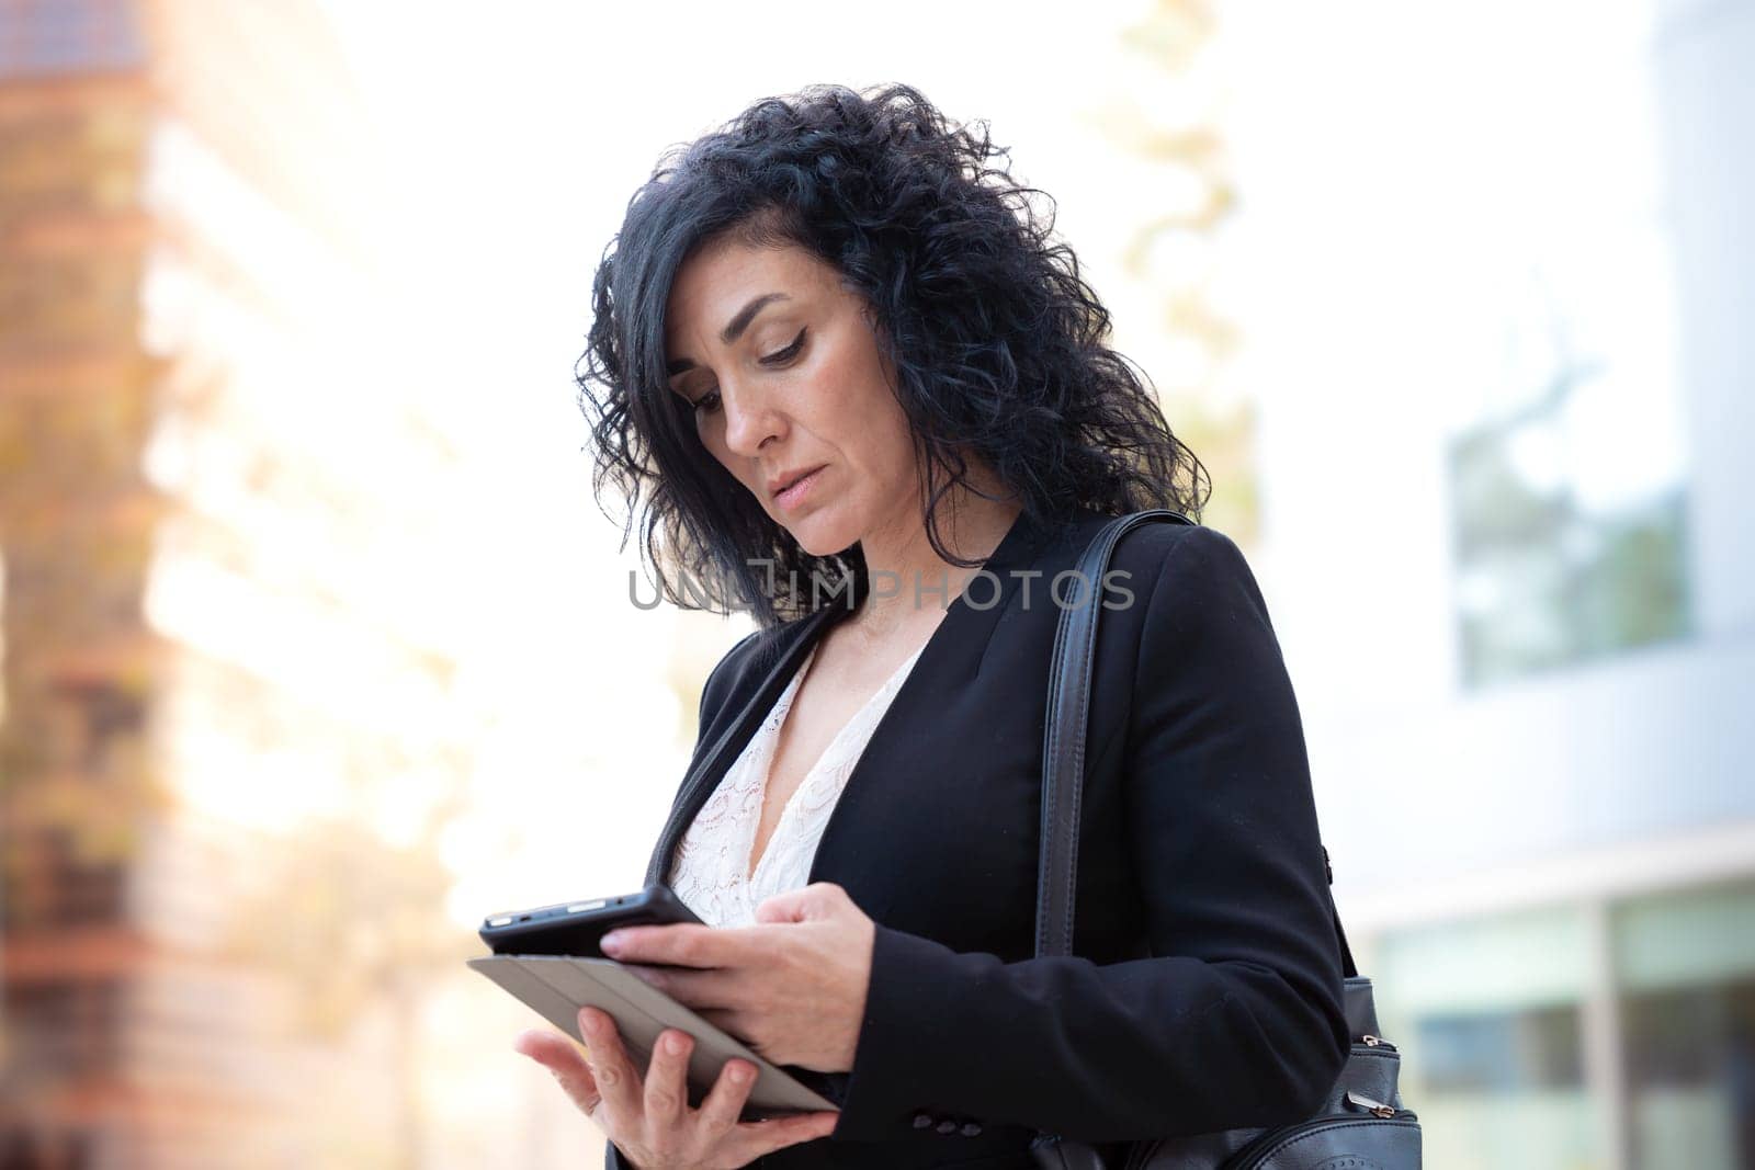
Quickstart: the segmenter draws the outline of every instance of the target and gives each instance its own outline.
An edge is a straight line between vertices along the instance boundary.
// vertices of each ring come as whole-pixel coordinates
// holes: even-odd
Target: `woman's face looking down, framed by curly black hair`
[[[802,549],[906,531],[918,484],[907,416],[863,302],[797,246],[720,240],[670,286],[665,361],[702,446]],[[792,491],[776,484],[809,477]]]

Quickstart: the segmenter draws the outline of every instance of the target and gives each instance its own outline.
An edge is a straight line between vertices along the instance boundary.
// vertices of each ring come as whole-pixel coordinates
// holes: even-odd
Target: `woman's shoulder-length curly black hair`
[[[1030,196],[1046,193],[1016,182],[1009,147],[972,125],[949,123],[911,86],[809,86],[670,147],[628,200],[593,279],[574,377],[598,509],[614,481],[630,505],[625,549],[646,488],[642,551],[672,603],[748,610],[767,628],[825,603],[813,579],[851,584],[841,603],[867,588],[860,546],[806,553],[707,453],[667,388],[670,282],[725,237],[804,247],[863,298],[914,437],[928,540],[946,561],[978,563],[951,556],[937,530],[941,496],[976,491],[965,454],[1032,519],[1071,507],[1199,519],[1206,468],[1171,433],[1150,379],[1104,344],[1107,309],[1072,249],[1051,240],[1053,198],[1039,216]]]

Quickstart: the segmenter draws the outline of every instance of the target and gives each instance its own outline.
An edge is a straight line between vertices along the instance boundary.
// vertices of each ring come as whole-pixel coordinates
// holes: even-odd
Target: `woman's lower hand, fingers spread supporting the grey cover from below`
[[[839,1114],[834,1110],[737,1121],[755,1088],[756,1068],[735,1058],[720,1070],[700,1109],[690,1109],[688,1054],[695,1040],[686,1031],[667,1028],[658,1037],[644,1077],[628,1059],[607,1012],[579,1009],[579,1035],[590,1059],[556,1031],[525,1031],[514,1047],[555,1074],[572,1103],[635,1170],[732,1170],[835,1128]]]

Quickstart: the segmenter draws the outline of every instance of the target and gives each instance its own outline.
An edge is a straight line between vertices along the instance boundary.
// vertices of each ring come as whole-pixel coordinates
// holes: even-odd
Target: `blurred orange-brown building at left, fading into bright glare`
[[[407,933],[442,872],[281,831],[418,845],[469,731],[448,500],[384,491],[456,453],[386,379],[351,95],[305,0],[0,4],[7,1168],[419,1145],[409,1021],[353,1026],[393,979],[335,986],[377,968],[321,930],[358,900]]]

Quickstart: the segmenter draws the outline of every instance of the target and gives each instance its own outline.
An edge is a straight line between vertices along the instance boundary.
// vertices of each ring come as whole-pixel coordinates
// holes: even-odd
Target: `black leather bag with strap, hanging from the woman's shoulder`
[[[1104,524],[1079,561],[1088,582],[1085,603],[1065,605],[1055,633],[1042,746],[1042,840],[1035,903],[1035,954],[1072,954],[1072,907],[1078,875],[1079,795],[1085,786],[1085,724],[1090,712],[1092,658],[1097,649],[1099,588],[1109,554],[1123,533],[1148,521],[1193,524],[1181,512],[1148,509]],[[1323,849],[1329,884],[1334,868]],[[1418,1170],[1420,1117],[1402,1107],[1400,1054],[1378,1033],[1371,979],[1353,967],[1341,914],[1329,912],[1346,974],[1346,1019],[1353,1051],[1323,1107],[1281,1126],[1143,1138],[1104,1152],[1086,1142],[1039,1133],[1030,1145],[1046,1170]],[[1120,1158],[1121,1161],[1113,1161]]]

